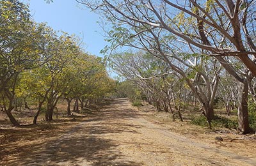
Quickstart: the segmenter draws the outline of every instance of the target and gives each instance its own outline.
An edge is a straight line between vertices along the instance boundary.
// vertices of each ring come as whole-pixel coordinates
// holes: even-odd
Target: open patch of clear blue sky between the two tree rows
[[[29,3],[31,15],[36,22],[47,22],[56,31],[76,34],[83,39],[86,52],[103,57],[99,52],[108,43],[104,41],[102,29],[97,24],[99,16],[82,4],[75,0],[54,0],[50,4],[44,0],[24,0],[24,3]]]

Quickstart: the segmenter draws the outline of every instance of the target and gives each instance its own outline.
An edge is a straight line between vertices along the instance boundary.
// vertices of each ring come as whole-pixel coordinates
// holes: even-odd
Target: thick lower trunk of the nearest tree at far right
[[[238,128],[243,134],[250,133],[249,117],[248,117],[248,82],[238,82]]]

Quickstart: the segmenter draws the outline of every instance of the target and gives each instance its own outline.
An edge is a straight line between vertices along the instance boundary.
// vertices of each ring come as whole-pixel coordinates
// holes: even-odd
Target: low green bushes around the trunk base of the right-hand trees
[[[207,119],[205,116],[194,117],[191,120],[192,124],[196,124],[198,126],[209,126],[207,123]],[[211,121],[211,125],[213,128],[237,128],[237,121],[228,119],[227,117],[214,116],[214,119]]]

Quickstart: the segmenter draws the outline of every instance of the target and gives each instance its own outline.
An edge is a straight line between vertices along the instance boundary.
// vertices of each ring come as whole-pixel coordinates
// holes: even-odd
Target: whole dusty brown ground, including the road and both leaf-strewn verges
[[[74,123],[13,128],[19,144],[17,138],[1,142],[0,165],[256,165],[252,135],[210,132],[157,116],[119,99]],[[35,139],[38,132],[44,136]],[[223,142],[215,142],[216,135]]]

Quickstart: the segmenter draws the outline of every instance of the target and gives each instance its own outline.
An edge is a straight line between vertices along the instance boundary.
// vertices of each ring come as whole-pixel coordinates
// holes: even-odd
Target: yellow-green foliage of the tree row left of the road
[[[63,96],[94,101],[111,96],[115,82],[105,61],[86,54],[76,36],[36,24],[17,0],[0,1],[0,24],[0,97],[7,109],[15,107],[15,99],[26,99],[43,103],[48,113]]]

